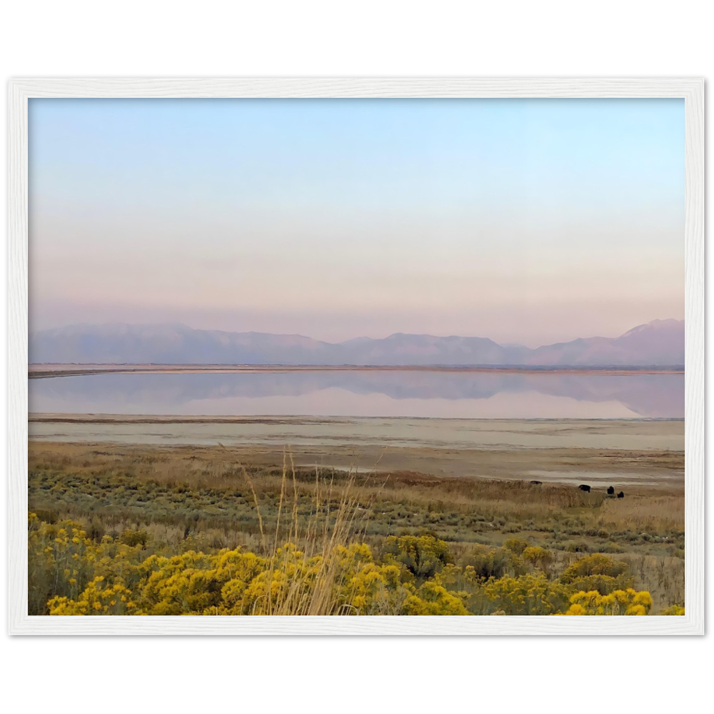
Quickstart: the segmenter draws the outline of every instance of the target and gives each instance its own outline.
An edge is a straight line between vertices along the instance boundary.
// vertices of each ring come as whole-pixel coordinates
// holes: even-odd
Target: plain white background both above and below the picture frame
[[[422,74],[448,69],[446,76],[493,69],[559,69],[561,74],[589,69],[601,76],[623,67],[629,76],[639,69],[654,76],[682,69],[690,70],[685,76],[702,76],[711,64],[710,6],[622,0],[498,6],[388,0],[266,1],[259,6],[41,1],[4,8],[0,57],[3,66],[12,68],[11,76],[34,70],[79,70],[87,76],[104,69],[147,68],[181,70],[180,76],[197,69],[231,69],[233,74],[316,69],[325,74],[385,68]],[[17,268],[10,266],[11,271]],[[695,297],[701,300],[703,293]],[[10,296],[10,308],[13,301],[17,306],[16,294]],[[11,324],[11,336],[18,327]],[[12,406],[9,416],[19,416]],[[21,637],[0,653],[5,700],[11,711],[90,707],[107,714],[223,707],[272,712],[288,706],[296,712],[488,706],[504,712],[602,714],[688,712],[710,704],[708,696],[703,698],[712,664],[707,646],[693,650],[668,643],[663,648],[650,637],[645,645],[625,647],[620,639],[615,647],[600,640],[604,647],[555,648],[516,641],[496,645],[478,635],[466,638],[468,644],[464,638],[446,645],[432,644],[433,638],[422,645],[416,640],[386,646],[389,638],[376,645],[364,640],[333,644],[344,636],[309,645],[299,644],[310,640],[298,637],[273,643],[246,635],[223,646],[181,640],[152,650],[127,646],[132,640],[126,637],[119,640],[121,648],[117,643],[47,645],[47,638],[26,645],[29,640]]]

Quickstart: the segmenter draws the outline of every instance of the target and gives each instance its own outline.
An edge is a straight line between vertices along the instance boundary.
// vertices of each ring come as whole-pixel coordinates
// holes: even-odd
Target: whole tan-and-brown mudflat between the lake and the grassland
[[[245,463],[683,491],[684,422],[31,414],[34,441],[230,448]]]

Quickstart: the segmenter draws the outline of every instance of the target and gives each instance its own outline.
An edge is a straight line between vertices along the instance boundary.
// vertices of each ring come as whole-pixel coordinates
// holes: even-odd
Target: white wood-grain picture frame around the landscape
[[[27,101],[33,97],[682,97],[685,100],[685,608],[683,617],[28,617]],[[8,80],[8,633],[12,635],[695,635],[704,633],[704,80]]]

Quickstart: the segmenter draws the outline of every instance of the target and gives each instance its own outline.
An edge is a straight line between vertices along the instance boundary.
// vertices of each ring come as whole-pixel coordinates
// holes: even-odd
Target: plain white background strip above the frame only
[[[15,74],[644,70],[666,76],[684,70],[702,76],[711,66],[712,6],[703,0],[34,0],[4,3],[0,57]]]

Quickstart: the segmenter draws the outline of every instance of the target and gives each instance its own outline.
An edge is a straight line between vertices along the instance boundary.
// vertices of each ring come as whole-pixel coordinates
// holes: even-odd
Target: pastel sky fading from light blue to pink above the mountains
[[[679,99],[30,99],[31,330],[684,317]]]

